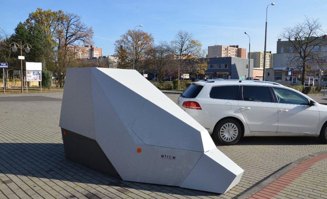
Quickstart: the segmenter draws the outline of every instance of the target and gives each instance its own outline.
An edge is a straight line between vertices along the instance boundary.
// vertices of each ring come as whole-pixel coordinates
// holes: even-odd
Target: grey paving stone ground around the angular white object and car
[[[175,102],[179,96],[172,93],[166,95]],[[285,165],[327,150],[327,145],[318,138],[305,137],[247,137],[233,146],[216,144],[220,151],[245,170],[240,183],[220,195],[173,186],[128,182],[65,159],[58,126],[61,101],[52,99],[61,99],[62,93],[23,95],[43,96],[43,101],[38,101],[37,97],[22,101],[2,99],[12,96],[19,98],[20,94],[6,94],[0,97],[1,199],[237,198]],[[305,174],[309,175],[310,171],[315,174],[319,169],[322,174],[317,174],[318,177],[326,175],[326,165],[326,161],[318,162],[300,177],[305,178]],[[317,179],[314,180],[319,181]],[[316,189],[308,189],[325,192],[322,191],[325,178],[319,179],[320,181],[314,184],[316,186],[313,186]],[[310,186],[307,181],[301,179],[302,184],[307,183],[305,185]],[[290,188],[285,188],[289,191],[287,188]]]

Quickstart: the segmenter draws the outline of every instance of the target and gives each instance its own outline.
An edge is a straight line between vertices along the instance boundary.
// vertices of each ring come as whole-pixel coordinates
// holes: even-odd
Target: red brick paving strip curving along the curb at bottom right
[[[302,161],[297,166],[293,167],[293,169],[289,170],[286,174],[282,175],[274,182],[269,184],[267,187],[259,191],[258,193],[252,195],[251,199],[267,199],[273,198],[277,195],[280,191],[282,191],[285,187],[291,184],[296,178],[300,177],[306,170],[312,167],[315,163],[319,162],[320,160],[326,159],[327,153],[323,153],[318,156],[314,156],[312,158],[308,158]]]

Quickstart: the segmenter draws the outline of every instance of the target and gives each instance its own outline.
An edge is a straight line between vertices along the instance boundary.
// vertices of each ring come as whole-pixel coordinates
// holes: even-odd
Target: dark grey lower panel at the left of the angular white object
[[[67,159],[103,173],[120,177],[95,140],[64,128],[61,128],[61,135]]]

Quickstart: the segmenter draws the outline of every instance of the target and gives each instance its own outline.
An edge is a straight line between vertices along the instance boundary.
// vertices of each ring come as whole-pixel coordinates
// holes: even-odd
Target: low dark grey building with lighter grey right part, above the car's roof
[[[235,57],[209,58],[205,75],[207,78],[245,79],[253,76],[253,60]]]

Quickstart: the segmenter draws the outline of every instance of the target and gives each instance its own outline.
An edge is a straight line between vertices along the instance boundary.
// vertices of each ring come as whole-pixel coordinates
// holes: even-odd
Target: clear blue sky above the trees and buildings
[[[210,45],[239,45],[249,52],[264,51],[266,8],[267,51],[276,53],[283,27],[301,22],[304,15],[319,18],[327,30],[326,0],[0,0],[0,27],[12,34],[19,22],[37,8],[63,10],[81,16],[92,26],[94,44],[102,55],[114,54],[114,42],[128,29],[142,24],[155,42],[172,41],[179,30],[193,34],[202,48]],[[326,32],[327,33],[327,32]]]

